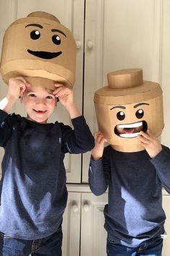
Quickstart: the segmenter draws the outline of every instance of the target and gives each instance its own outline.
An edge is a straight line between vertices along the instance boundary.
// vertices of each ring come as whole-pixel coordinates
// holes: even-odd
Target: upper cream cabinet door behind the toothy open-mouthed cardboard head
[[[162,5],[161,0],[86,0],[84,115],[92,132],[98,129],[94,92],[107,85],[109,72],[141,68],[145,80],[160,82]],[[83,182],[88,164],[84,155]]]

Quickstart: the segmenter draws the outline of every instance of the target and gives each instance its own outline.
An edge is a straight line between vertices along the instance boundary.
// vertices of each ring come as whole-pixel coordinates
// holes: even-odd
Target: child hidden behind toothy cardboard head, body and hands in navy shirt
[[[161,146],[149,131],[140,131],[138,139],[146,150],[138,152],[104,148],[106,139],[100,132],[94,138],[89,185],[95,195],[109,187],[104,208],[107,255],[161,256],[166,219],[161,189],[164,185],[170,193],[169,148]]]

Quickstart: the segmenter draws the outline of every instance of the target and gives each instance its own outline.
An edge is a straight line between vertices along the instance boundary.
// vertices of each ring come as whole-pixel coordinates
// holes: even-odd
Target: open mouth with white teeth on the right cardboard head
[[[122,138],[135,138],[136,136],[138,136],[140,131],[146,132],[147,129],[148,125],[146,121],[140,121],[138,123],[116,125],[115,134]]]

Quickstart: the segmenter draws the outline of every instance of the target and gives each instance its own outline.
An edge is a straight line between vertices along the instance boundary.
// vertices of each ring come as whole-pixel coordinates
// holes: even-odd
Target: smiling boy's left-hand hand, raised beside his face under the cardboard
[[[9,100],[17,100],[21,94],[23,94],[26,87],[30,84],[22,76],[9,79],[9,89],[6,98]]]

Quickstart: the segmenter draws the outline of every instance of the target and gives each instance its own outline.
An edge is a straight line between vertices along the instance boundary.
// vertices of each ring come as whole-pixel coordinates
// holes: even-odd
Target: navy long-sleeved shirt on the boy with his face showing
[[[0,231],[18,239],[40,239],[61,225],[66,208],[66,153],[94,146],[83,116],[63,123],[35,123],[0,110],[0,146],[4,147]]]

